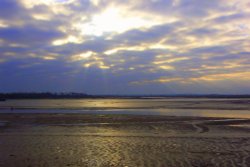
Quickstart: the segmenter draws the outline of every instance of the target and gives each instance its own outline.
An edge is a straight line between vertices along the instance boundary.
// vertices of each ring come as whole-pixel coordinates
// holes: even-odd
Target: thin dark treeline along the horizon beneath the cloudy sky
[[[221,94],[177,94],[177,95],[88,95],[85,93],[0,93],[0,100],[4,99],[82,99],[82,98],[250,98],[250,95],[221,95]]]

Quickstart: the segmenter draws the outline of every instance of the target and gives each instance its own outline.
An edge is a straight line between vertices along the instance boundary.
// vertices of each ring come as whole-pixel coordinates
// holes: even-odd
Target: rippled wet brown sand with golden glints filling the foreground
[[[0,114],[0,166],[250,166],[249,119]]]

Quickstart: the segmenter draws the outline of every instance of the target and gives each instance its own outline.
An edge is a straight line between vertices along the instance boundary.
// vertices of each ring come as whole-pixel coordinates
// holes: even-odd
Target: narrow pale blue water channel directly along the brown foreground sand
[[[164,115],[250,118],[248,110],[207,110],[207,109],[113,109],[113,110],[63,110],[63,109],[16,109],[0,110],[0,113],[63,113],[63,114],[122,114],[122,115]]]

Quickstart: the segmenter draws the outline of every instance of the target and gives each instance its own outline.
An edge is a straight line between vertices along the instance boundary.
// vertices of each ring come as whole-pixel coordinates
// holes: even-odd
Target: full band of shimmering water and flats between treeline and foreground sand
[[[0,113],[84,113],[250,118],[250,99],[7,100]]]

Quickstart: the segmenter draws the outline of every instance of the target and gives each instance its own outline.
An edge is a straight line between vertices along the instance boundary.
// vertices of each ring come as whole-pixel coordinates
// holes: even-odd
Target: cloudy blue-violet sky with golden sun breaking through
[[[0,0],[0,92],[250,94],[249,0]]]

